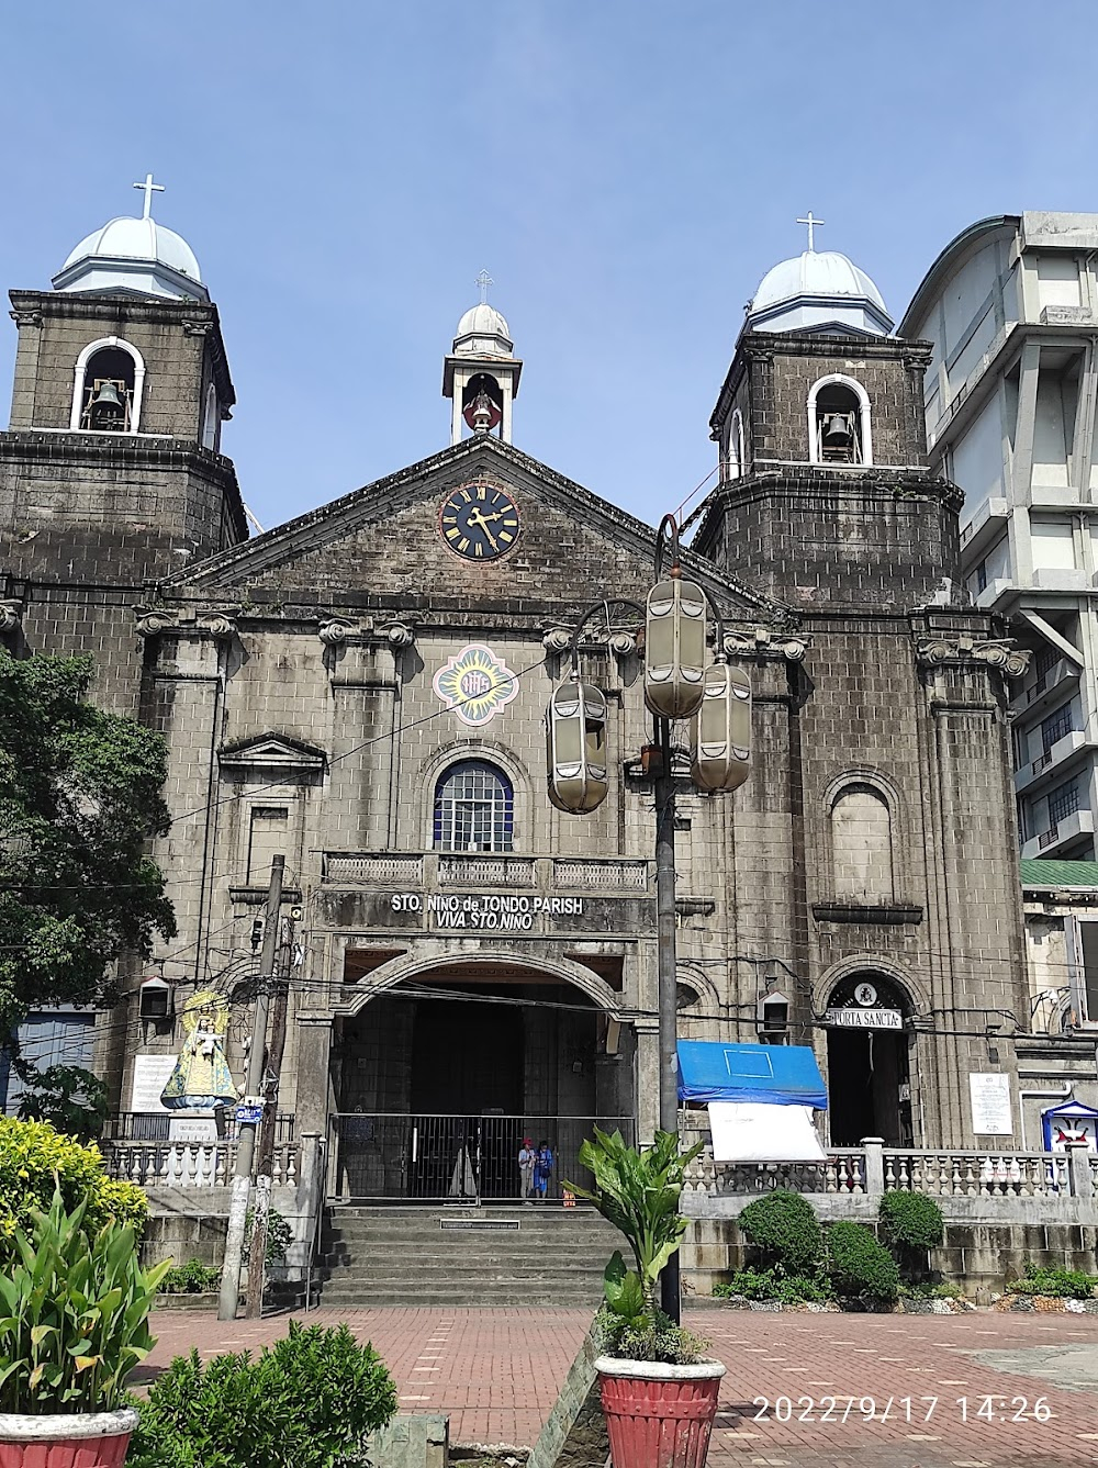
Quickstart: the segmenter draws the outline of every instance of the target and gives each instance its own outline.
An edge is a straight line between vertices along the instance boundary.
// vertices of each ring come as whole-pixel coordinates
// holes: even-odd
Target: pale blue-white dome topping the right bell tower
[[[768,332],[837,330],[887,335],[892,319],[872,279],[835,250],[806,250],[781,260],[759,282],[749,327]]]

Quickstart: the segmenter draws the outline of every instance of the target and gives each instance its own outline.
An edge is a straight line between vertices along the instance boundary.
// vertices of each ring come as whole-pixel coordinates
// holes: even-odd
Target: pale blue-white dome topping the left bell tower
[[[154,219],[120,216],[81,239],[53,279],[57,291],[208,299],[195,254]]]

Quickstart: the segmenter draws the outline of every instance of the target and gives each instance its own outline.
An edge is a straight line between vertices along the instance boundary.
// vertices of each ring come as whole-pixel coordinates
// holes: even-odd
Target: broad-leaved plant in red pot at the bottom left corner
[[[134,1229],[91,1236],[85,1210],[56,1191],[0,1271],[0,1468],[119,1468],[137,1425],[125,1381],[170,1261],[142,1270]]]

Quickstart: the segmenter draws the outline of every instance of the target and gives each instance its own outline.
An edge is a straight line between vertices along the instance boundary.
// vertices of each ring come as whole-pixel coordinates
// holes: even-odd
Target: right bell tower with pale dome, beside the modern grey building
[[[926,342],[809,250],[766,273],[709,420],[721,480],[693,549],[793,606],[907,611],[959,584],[957,490],[926,467]]]

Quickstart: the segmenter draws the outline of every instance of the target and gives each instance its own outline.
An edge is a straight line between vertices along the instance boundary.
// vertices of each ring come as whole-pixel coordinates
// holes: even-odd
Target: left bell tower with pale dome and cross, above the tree
[[[248,536],[222,423],[235,402],[198,261],[153,219],[82,239],[53,289],[12,291],[19,330],[0,433],[0,637],[95,655],[97,696],[132,712],[134,606]]]

